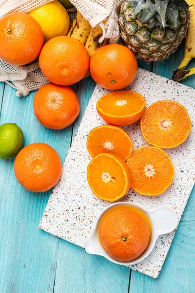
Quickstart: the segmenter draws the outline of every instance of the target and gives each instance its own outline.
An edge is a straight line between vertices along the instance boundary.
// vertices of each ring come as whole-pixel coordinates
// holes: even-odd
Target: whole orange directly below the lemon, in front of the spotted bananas
[[[80,41],[67,36],[56,37],[43,46],[39,66],[50,82],[71,85],[87,73],[89,55]]]

